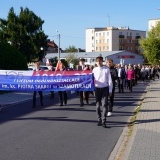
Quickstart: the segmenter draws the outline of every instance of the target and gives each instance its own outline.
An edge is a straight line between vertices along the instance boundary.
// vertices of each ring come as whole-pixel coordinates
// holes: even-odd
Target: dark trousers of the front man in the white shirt
[[[95,88],[95,97],[96,97],[96,112],[98,115],[98,121],[106,122],[107,112],[108,112],[108,96],[109,96],[109,87],[104,88]],[[100,107],[103,107],[103,112],[101,115]]]

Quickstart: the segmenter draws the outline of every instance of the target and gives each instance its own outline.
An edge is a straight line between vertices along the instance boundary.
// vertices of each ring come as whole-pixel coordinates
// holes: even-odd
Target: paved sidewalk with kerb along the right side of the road
[[[160,159],[160,80],[150,82],[131,136],[127,137],[126,132],[128,127],[124,129],[109,160]]]

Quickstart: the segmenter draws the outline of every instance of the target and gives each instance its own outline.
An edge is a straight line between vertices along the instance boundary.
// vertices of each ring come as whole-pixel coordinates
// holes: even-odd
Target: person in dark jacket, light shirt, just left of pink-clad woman
[[[118,92],[123,93],[126,72],[125,72],[125,69],[121,66],[121,64],[118,64],[117,71],[118,71]]]

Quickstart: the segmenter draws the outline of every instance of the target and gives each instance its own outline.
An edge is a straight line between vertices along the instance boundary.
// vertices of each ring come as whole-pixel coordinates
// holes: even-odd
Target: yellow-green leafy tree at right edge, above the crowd
[[[160,63],[160,23],[148,32],[146,39],[140,40],[140,44],[149,63]]]

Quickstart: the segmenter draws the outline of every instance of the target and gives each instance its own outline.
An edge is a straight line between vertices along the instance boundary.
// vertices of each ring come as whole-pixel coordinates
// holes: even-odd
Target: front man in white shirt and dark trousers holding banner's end
[[[103,66],[103,57],[96,58],[97,67],[92,71],[95,83],[96,111],[98,115],[98,126],[106,128],[106,117],[108,113],[108,96],[112,95],[112,78],[107,66]],[[101,115],[100,106],[103,107]]]

